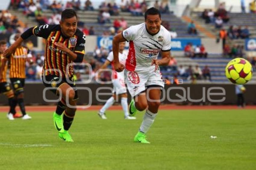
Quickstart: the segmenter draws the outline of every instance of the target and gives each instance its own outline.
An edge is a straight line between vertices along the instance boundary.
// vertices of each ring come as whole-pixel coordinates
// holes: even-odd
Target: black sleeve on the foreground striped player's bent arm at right
[[[85,40],[86,40],[86,37],[85,35],[81,32],[78,34],[78,37],[77,37],[77,43],[76,43],[76,46],[74,48],[74,53],[76,53],[77,57],[76,59],[74,60],[74,62],[82,62],[83,61],[83,56],[85,54],[84,52],[84,48],[85,48]]]

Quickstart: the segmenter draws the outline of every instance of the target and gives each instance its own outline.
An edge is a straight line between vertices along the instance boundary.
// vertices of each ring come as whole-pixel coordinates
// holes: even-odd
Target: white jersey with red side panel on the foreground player
[[[150,35],[145,23],[131,26],[122,32],[123,38],[129,41],[129,53],[126,60],[128,71],[140,71],[155,69],[151,66],[152,59],[162,51],[170,51],[171,35],[164,26],[155,35]]]

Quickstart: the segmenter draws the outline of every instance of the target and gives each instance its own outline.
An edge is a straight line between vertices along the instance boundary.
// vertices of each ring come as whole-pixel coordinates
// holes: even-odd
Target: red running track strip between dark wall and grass
[[[101,105],[92,105],[89,108],[78,108],[83,111],[98,111]],[[16,107],[19,111],[19,107]],[[26,111],[55,111],[56,106],[26,106]],[[246,106],[245,108],[238,108],[234,105],[222,106],[177,106],[177,105],[161,105],[160,110],[218,110],[218,109],[256,109],[256,106]],[[111,106],[108,110],[122,110],[120,105]],[[0,112],[8,112],[9,106],[0,106]]]

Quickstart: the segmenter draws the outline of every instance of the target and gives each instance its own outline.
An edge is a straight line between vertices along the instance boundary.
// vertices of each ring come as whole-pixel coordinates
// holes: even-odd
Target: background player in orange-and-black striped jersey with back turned
[[[14,40],[17,40],[20,37],[20,34],[17,33],[14,36]],[[25,105],[24,105],[24,85],[25,85],[25,68],[26,68],[26,61],[28,60],[28,57],[31,57],[31,54],[29,54],[29,51],[26,47],[17,46],[14,53],[11,53],[8,56],[4,55],[3,62],[1,65],[1,70],[6,65],[6,62],[9,61],[10,63],[10,81],[11,86],[14,90],[15,95],[15,101],[14,101],[14,108],[16,107],[17,103],[20,106],[20,111],[22,112],[22,119],[28,120],[31,119],[31,117],[26,113]],[[10,116],[10,115],[9,115]]]

